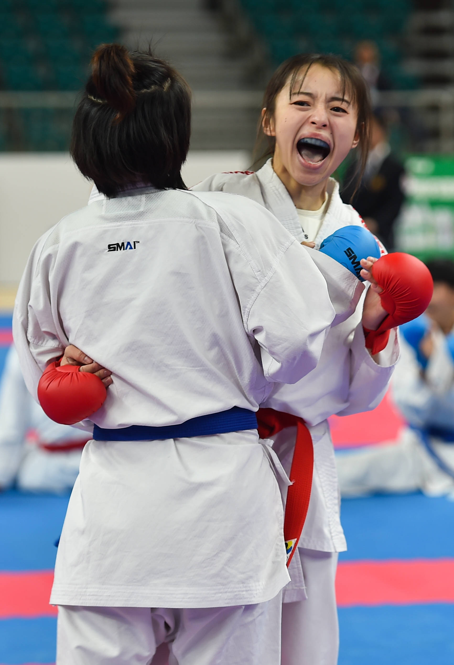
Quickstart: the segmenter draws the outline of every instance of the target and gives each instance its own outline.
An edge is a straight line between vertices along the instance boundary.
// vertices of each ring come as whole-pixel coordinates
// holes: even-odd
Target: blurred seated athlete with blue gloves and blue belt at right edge
[[[408,422],[399,440],[336,456],[342,496],[411,492],[454,496],[454,261],[427,263],[433,297],[400,328],[394,401]]]

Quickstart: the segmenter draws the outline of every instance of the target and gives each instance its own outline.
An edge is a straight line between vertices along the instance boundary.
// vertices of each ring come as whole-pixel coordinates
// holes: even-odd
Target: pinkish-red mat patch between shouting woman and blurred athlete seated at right
[[[328,420],[335,448],[389,442],[397,439],[405,426],[389,391],[373,411],[354,416],[331,416]]]

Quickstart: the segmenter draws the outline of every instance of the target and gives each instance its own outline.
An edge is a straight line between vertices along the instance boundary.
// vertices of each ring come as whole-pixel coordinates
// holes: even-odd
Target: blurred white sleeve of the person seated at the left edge
[[[33,404],[33,402],[32,402]],[[19,358],[11,346],[0,384],[0,487],[9,487],[21,464],[31,424],[31,396],[25,386]]]

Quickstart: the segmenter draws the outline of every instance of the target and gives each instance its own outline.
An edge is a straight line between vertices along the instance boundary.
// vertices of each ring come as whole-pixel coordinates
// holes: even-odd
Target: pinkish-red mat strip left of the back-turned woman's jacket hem
[[[0,573],[0,618],[57,616],[49,605],[53,571]]]

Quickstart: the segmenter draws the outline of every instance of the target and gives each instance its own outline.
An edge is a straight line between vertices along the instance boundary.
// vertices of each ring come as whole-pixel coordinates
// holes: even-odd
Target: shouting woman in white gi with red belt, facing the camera
[[[364,287],[357,277],[332,261],[326,265],[318,252],[322,241],[336,230],[362,225],[358,213],[342,203],[338,183],[330,176],[356,146],[363,166],[366,164],[370,102],[366,84],[354,66],[335,57],[300,55],[277,69],[263,106],[261,127],[271,156],[265,166],[257,173],[211,176],[193,191],[240,194],[245,205],[249,198],[276,215],[298,243],[308,245],[306,249],[318,261],[339,311],[317,367],[292,386],[275,385],[261,404],[304,419],[314,444],[308,514],[298,557],[290,561],[292,581],[284,590],[283,664],[335,665],[338,618],[334,578],[338,552],[346,549],[346,541],[326,419],[335,413],[347,415],[377,406],[399,353],[395,330],[374,356],[365,346],[363,326],[373,331],[386,317],[380,307],[380,289],[368,289],[366,300],[363,295],[358,304]],[[92,198],[96,196],[94,190]],[[261,240],[258,232],[257,242]],[[386,251],[382,249],[382,253]],[[362,261],[362,266],[370,269],[373,261],[376,258]],[[366,275],[364,271],[362,277]],[[302,287],[307,291],[305,281]],[[345,300],[350,302],[350,316]],[[82,352],[73,346],[65,355],[64,362],[84,363]],[[296,423],[272,435],[287,473],[295,437]]]

